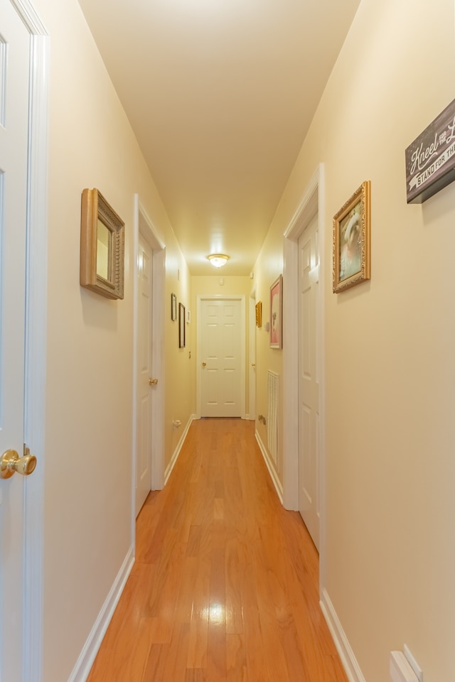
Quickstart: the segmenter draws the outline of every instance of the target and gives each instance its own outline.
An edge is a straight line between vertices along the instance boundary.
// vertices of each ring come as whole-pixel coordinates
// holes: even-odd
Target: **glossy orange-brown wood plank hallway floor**
[[[87,682],[347,682],[319,558],[254,423],[194,421],[137,519],[137,561]]]

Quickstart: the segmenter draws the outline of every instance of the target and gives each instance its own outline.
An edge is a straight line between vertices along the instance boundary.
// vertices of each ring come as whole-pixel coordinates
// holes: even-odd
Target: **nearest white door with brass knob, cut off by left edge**
[[[0,23],[0,455],[23,455],[30,34],[9,0]],[[0,681],[23,679],[26,480],[0,479]]]

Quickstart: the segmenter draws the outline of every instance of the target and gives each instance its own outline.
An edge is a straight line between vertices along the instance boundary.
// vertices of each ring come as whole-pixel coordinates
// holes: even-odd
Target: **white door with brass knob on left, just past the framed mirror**
[[[151,490],[151,331],[153,251],[139,234],[137,333],[136,516]]]

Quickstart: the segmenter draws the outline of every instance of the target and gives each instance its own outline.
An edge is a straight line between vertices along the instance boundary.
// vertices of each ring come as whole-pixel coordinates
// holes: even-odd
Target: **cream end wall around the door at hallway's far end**
[[[223,284],[220,282],[223,281]],[[245,330],[246,330],[246,345],[245,345],[245,367],[248,367],[248,348],[249,348],[249,325],[248,325],[248,299],[254,287],[254,280],[250,277],[244,276],[225,276],[223,271],[213,276],[192,276],[191,277],[191,325],[189,339],[191,342],[191,362],[192,362],[192,394],[193,394],[193,413],[196,414],[196,371],[197,371],[197,334],[198,334],[198,319],[197,319],[197,301],[198,296],[245,296]],[[245,405],[248,406],[249,389],[248,389],[248,375],[246,372],[246,394]],[[248,407],[247,410],[248,411]]]

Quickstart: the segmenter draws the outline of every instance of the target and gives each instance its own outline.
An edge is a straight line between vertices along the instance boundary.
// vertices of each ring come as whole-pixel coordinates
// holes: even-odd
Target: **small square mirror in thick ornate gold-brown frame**
[[[99,190],[82,190],[80,285],[105,298],[124,296],[124,228]]]

